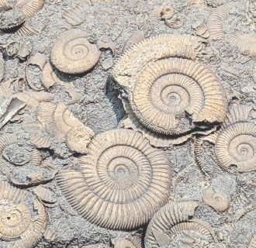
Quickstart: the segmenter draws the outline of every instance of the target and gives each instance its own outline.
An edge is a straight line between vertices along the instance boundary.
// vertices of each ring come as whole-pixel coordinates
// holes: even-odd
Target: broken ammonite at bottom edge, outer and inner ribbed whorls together
[[[202,236],[202,239],[208,240],[209,243],[213,242],[212,228],[209,225],[194,219],[190,220],[197,206],[195,202],[168,202],[160,208],[147,226],[145,248],[171,245],[177,234],[183,234],[183,239],[191,234]],[[193,243],[195,242],[196,240],[193,240]]]

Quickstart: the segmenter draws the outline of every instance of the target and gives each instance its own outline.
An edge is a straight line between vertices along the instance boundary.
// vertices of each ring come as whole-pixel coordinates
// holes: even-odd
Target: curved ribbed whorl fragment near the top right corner
[[[221,40],[224,38],[223,22],[228,18],[230,11],[234,9],[235,6],[235,2],[229,2],[213,10],[209,16],[209,32],[211,39]]]

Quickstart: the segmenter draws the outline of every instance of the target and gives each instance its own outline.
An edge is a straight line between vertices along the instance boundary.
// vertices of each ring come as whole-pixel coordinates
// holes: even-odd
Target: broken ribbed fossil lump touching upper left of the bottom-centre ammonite
[[[92,129],[82,124],[63,103],[42,103],[37,118],[47,133],[64,140],[67,147],[78,153],[86,153],[86,146],[94,135]]]

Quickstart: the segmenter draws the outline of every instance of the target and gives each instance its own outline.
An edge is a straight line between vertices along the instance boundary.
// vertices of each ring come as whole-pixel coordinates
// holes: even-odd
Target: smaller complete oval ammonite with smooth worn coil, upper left
[[[50,61],[59,71],[80,74],[92,69],[99,61],[100,52],[96,45],[86,39],[81,30],[67,31],[52,47]]]

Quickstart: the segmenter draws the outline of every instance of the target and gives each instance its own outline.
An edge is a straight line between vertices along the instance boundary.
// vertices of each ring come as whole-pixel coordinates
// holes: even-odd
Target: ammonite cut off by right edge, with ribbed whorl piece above
[[[215,144],[219,166],[230,172],[254,171],[256,168],[256,125],[248,121],[251,107],[230,108],[220,130],[203,140]]]

